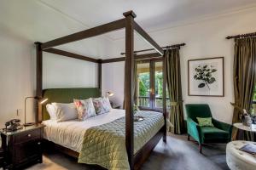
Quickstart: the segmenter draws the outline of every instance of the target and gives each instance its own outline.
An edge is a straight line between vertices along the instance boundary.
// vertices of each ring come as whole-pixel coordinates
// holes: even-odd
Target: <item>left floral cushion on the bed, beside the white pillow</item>
[[[84,121],[90,117],[96,116],[96,112],[92,103],[92,99],[73,99],[74,105],[77,107],[79,121]]]

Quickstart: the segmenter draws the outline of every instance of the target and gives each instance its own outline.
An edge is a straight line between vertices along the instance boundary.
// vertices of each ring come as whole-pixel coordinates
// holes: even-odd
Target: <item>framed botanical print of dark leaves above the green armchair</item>
[[[188,60],[189,96],[224,97],[224,57]]]

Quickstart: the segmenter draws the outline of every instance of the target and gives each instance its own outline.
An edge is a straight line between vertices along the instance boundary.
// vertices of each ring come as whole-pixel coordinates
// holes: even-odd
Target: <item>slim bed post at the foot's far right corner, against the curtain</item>
[[[165,127],[164,127],[164,135],[163,141],[166,142],[166,118],[167,118],[167,111],[166,111],[166,55],[163,55],[163,114],[165,118]]]

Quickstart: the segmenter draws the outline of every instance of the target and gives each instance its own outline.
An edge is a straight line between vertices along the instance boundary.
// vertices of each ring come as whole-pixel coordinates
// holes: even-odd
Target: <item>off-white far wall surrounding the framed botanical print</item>
[[[186,42],[187,44],[180,50],[184,104],[207,103],[210,105],[214,117],[224,122],[231,122],[233,108],[230,102],[234,101],[232,79],[234,44],[233,40],[226,40],[225,37],[255,31],[255,18],[256,10],[253,8],[209,20],[202,20],[186,26],[177,26],[163,31],[149,32],[150,36],[161,46],[179,42]],[[124,39],[120,39],[116,42],[116,47],[119,48],[119,51],[124,51],[124,47],[120,46],[124,43]],[[143,49],[144,47],[148,48],[144,43],[137,42],[136,48]],[[219,56],[224,56],[224,97],[189,97],[187,75],[188,59]],[[108,73],[105,72],[104,74],[106,77],[111,77],[110,80],[113,84],[110,87],[119,90],[119,87],[123,86],[123,82],[121,81],[121,79],[123,79],[121,77],[124,75],[123,66],[118,67],[118,64],[114,65],[115,68],[110,71],[106,69]],[[123,96],[117,96],[116,98],[123,99]]]

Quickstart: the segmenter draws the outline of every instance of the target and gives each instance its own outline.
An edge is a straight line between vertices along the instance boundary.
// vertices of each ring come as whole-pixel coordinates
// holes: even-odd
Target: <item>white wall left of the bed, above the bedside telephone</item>
[[[9,119],[24,120],[24,99],[35,89],[35,65],[33,44],[0,26],[0,127]],[[27,102],[32,113],[32,101]],[[16,110],[20,110],[20,116]],[[28,114],[27,121],[32,121]]]

